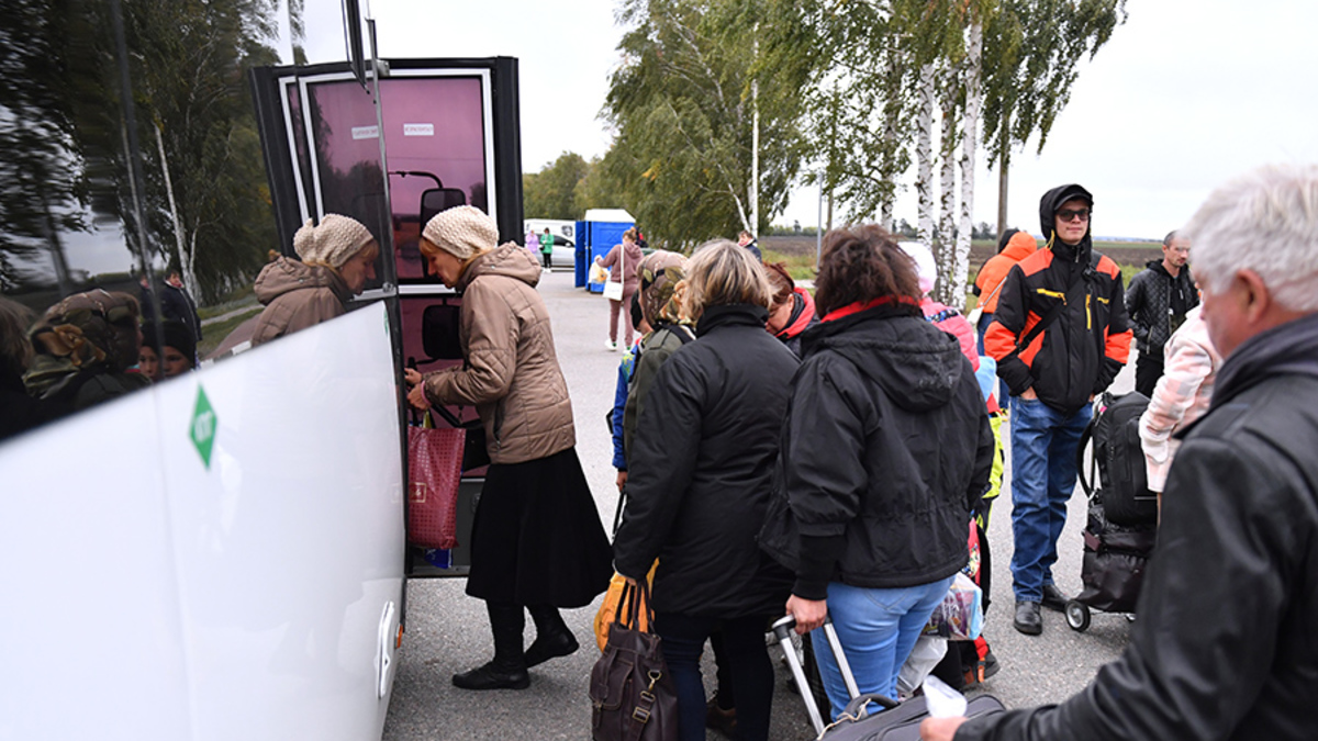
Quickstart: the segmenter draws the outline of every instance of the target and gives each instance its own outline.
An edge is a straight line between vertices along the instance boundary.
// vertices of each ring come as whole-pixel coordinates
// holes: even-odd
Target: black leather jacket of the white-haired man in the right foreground
[[[1061,705],[957,741],[1318,738],[1318,314],[1227,359],[1162,497],[1131,643]]]

